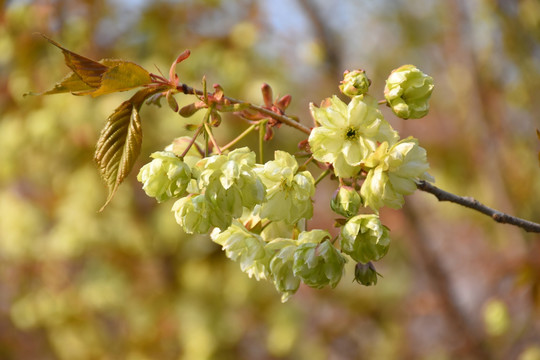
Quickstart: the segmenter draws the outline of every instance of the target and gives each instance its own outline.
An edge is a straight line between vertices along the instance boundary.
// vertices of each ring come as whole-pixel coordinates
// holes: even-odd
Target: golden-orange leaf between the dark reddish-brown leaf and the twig
[[[110,67],[103,74],[100,87],[89,92],[92,97],[131,90],[152,82],[150,73],[134,62],[124,60],[102,61]]]

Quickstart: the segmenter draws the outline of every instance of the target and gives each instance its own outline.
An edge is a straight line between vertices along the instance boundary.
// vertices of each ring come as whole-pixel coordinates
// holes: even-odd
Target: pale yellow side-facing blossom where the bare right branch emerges
[[[371,168],[360,189],[366,206],[378,210],[382,206],[399,209],[403,206],[403,195],[416,190],[419,179],[433,181],[427,173],[426,150],[418,146],[412,137],[389,146],[382,143],[365,162]]]

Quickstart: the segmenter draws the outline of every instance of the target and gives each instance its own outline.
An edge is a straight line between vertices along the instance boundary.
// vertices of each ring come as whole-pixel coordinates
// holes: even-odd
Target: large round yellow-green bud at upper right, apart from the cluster
[[[433,78],[414,65],[403,65],[386,80],[384,97],[392,111],[402,119],[419,119],[429,111]]]

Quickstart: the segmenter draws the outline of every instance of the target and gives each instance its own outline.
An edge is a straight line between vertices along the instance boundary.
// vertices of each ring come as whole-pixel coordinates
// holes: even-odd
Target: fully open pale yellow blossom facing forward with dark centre
[[[355,176],[378,143],[394,144],[399,139],[377,108],[377,101],[368,95],[355,96],[348,105],[333,96],[321,107],[310,104],[310,110],[320,124],[309,136],[313,157],[332,163],[339,177]]]

